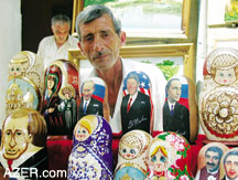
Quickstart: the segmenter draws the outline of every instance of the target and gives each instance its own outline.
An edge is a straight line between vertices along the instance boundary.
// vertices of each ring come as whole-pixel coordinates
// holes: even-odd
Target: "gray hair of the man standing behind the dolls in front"
[[[84,11],[82,11],[76,19],[76,31],[78,34],[78,39],[79,41],[82,41],[82,36],[80,36],[80,31],[79,31],[79,24],[86,24],[89,23],[91,21],[94,21],[97,18],[102,17],[104,14],[108,14],[113,23],[115,27],[115,32],[120,35],[121,32],[121,22],[118,18],[116,18],[116,15],[112,13],[112,11],[102,4],[96,4],[96,6],[89,6],[87,7]]]

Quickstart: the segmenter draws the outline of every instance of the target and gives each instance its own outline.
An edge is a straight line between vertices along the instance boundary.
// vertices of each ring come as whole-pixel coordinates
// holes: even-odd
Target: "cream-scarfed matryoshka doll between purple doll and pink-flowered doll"
[[[144,179],[148,171],[147,150],[151,140],[151,135],[143,130],[131,130],[122,136],[115,180]]]

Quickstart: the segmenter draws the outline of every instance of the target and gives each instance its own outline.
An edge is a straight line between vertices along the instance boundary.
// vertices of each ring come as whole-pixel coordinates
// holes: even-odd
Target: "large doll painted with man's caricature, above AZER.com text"
[[[0,166],[9,178],[37,179],[37,174],[48,169],[46,136],[45,120],[34,109],[20,108],[6,118],[2,125]]]

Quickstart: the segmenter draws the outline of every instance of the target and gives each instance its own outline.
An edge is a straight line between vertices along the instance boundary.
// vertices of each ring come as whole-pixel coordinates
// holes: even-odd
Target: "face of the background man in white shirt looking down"
[[[56,22],[54,25],[52,25],[52,32],[56,43],[64,44],[67,41],[69,25],[66,22],[63,24]]]

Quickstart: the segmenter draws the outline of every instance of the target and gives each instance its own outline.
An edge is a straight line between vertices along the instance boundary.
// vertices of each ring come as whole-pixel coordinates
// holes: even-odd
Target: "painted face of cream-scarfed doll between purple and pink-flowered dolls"
[[[120,148],[120,155],[123,157],[123,159],[133,159],[138,157],[140,153],[140,148],[138,146],[128,146],[128,145],[122,145]]]

